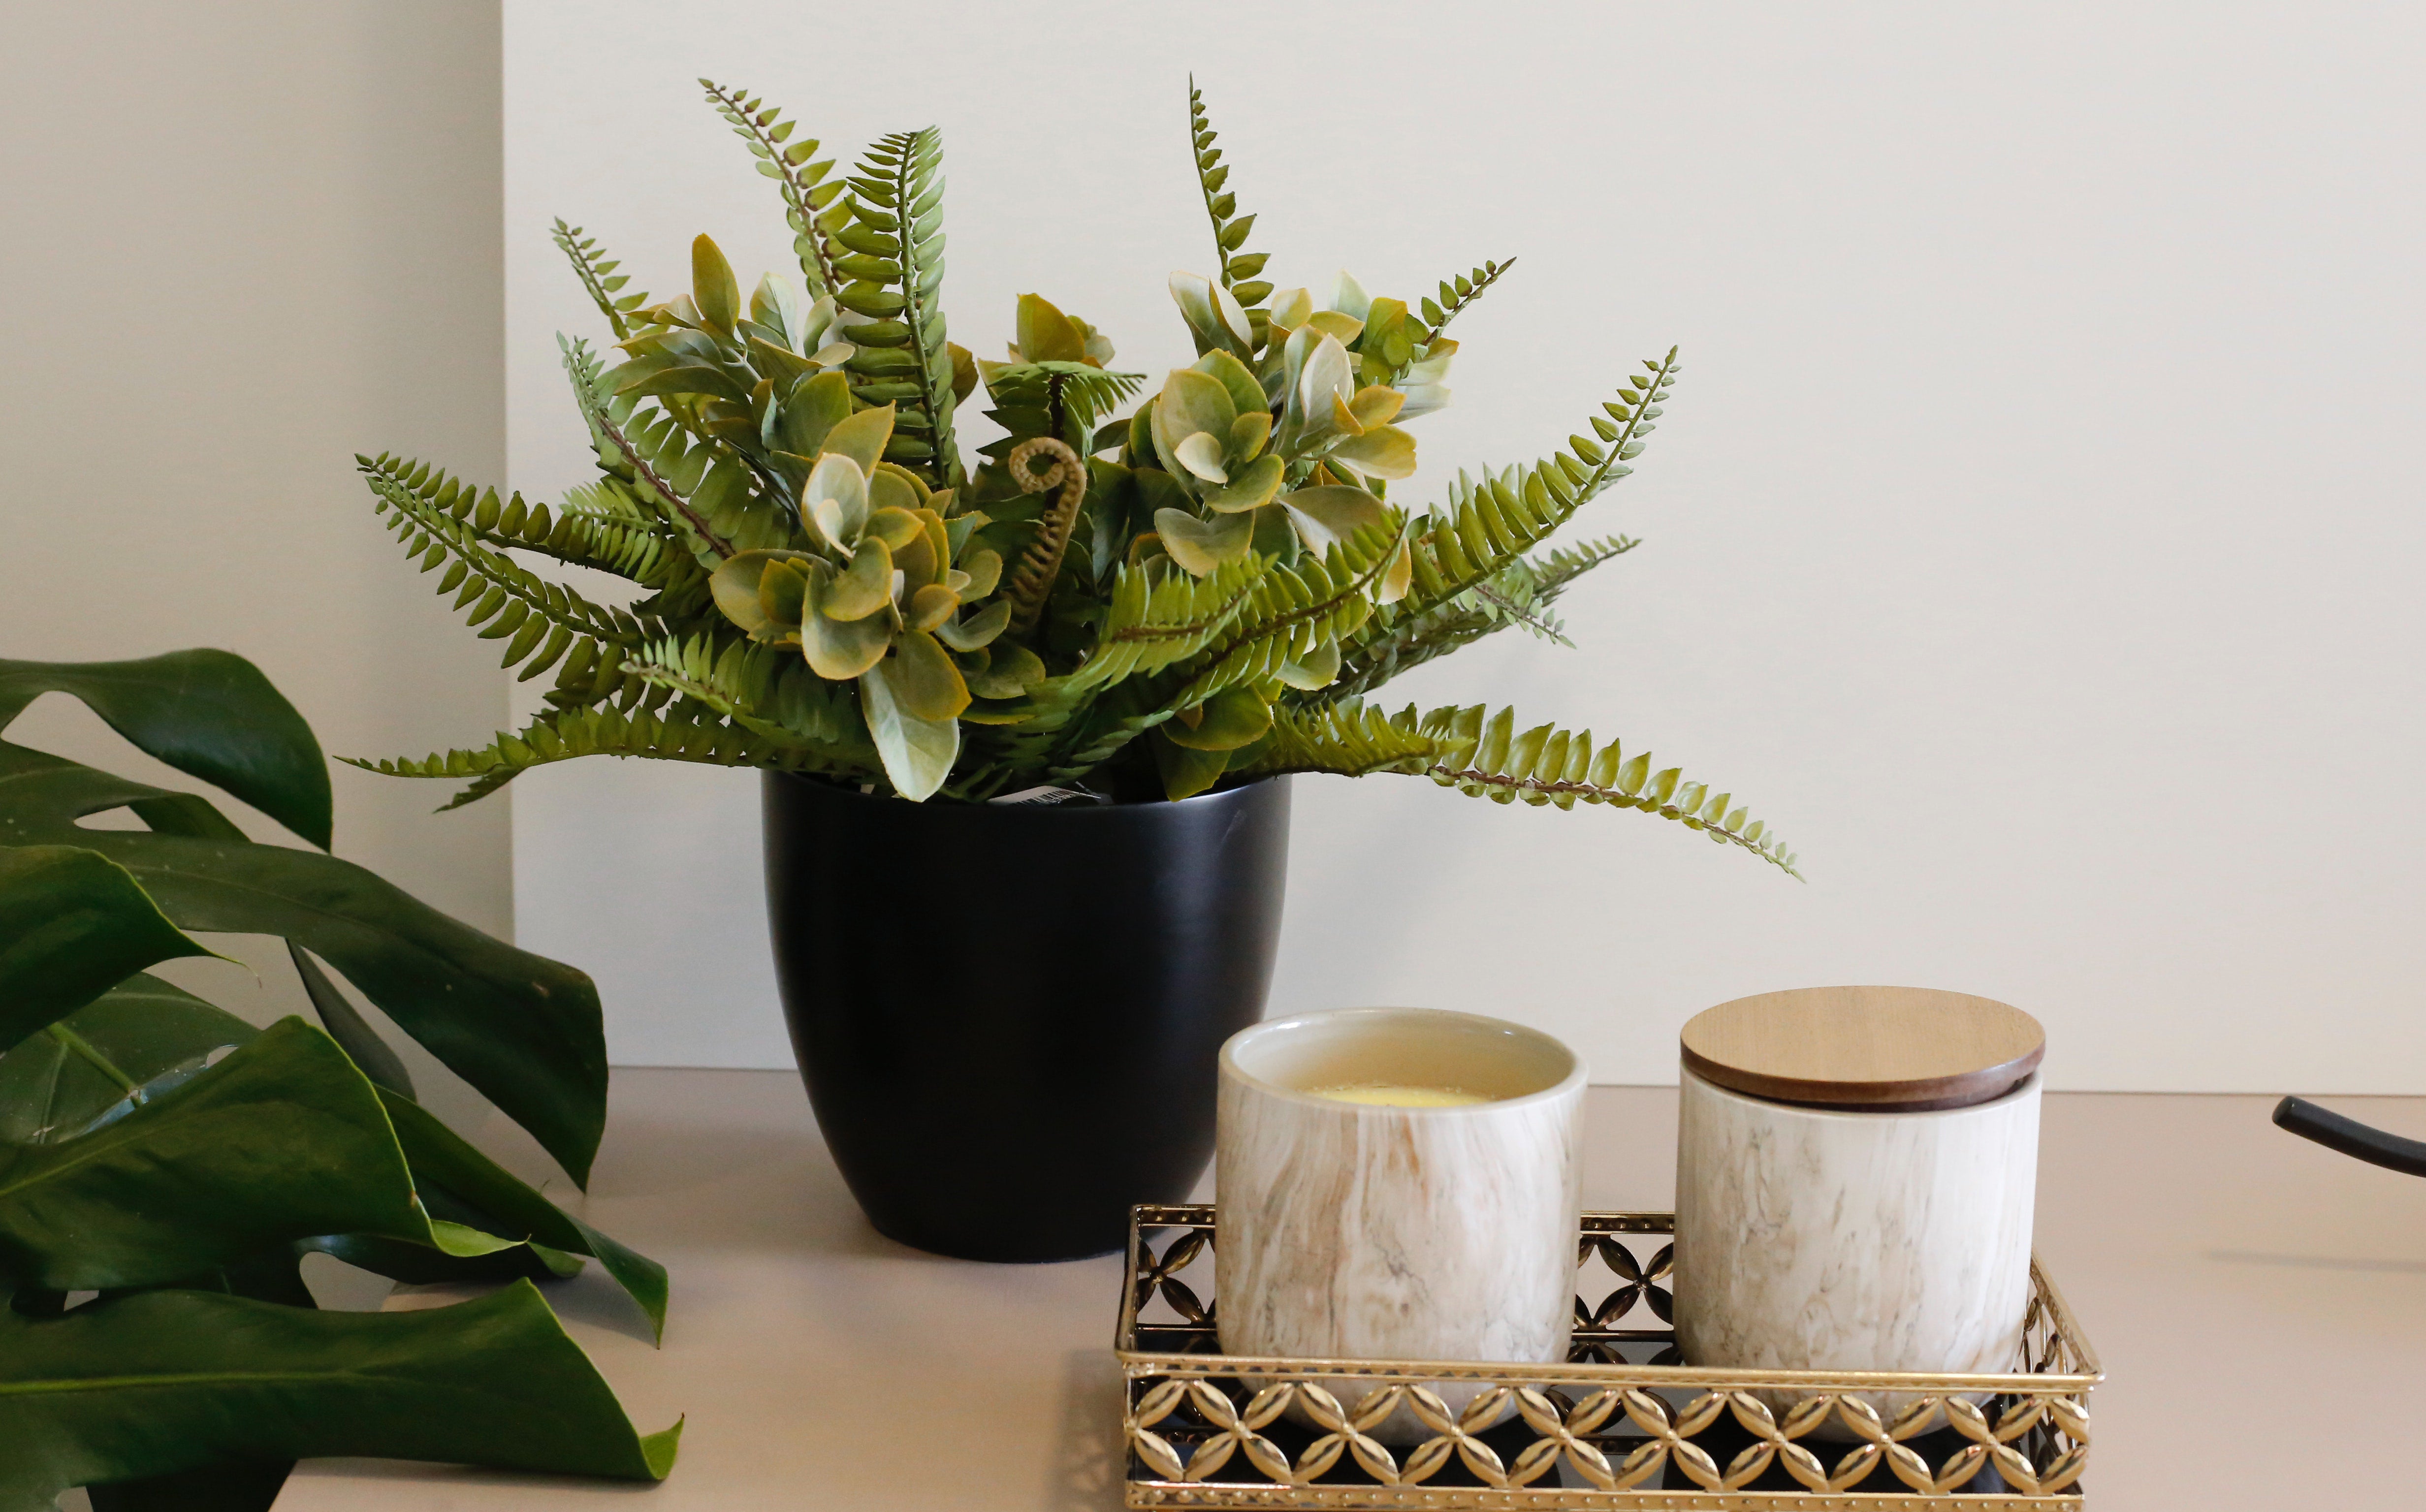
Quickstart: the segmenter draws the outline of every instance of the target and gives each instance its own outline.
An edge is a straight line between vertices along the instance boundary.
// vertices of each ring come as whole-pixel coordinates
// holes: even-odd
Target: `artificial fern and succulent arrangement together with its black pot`
[[[1633,546],[1545,541],[1630,471],[1676,354],[1562,451],[1429,507],[1407,422],[1507,265],[1414,303],[1274,289],[1191,90],[1213,277],[1172,274],[1196,362],[1150,383],[1021,296],[1002,362],[946,337],[941,141],[847,175],[701,80],[781,192],[801,282],[745,296],[708,238],[655,301],[556,240],[614,357],[563,340],[599,476],[553,510],[364,456],[376,510],[546,714],[376,762],[471,801],[580,755],[762,767],[767,903],[818,1121],[876,1226],[992,1260],[1111,1250],[1203,1170],[1213,1053],[1262,1014],[1295,772],[1633,808],[1793,871],[1725,791],[1482,704],[1385,714],[1390,677],[1550,609]],[[958,408],[1002,430],[975,449]],[[636,582],[590,602],[512,553]]]

